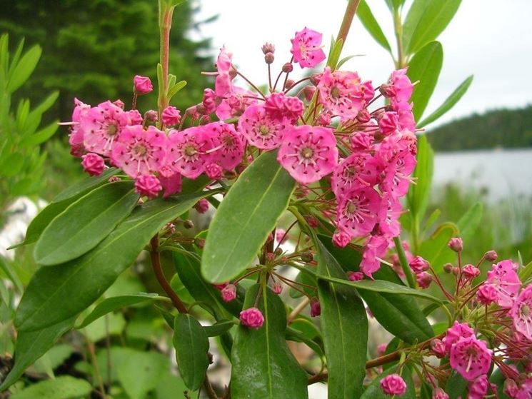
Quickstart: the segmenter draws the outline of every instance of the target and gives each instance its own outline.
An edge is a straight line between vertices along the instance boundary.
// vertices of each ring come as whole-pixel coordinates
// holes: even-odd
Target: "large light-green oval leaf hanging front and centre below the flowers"
[[[209,228],[201,273],[224,283],[254,261],[288,206],[296,182],[268,151],[251,163],[231,186]]]

